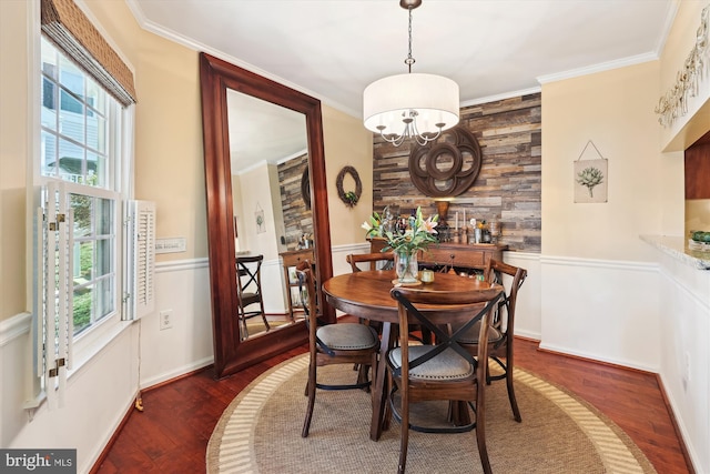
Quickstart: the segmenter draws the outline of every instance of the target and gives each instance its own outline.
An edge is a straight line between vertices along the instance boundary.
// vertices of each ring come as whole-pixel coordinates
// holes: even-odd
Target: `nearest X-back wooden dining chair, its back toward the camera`
[[[400,422],[399,464],[397,472],[404,473],[407,461],[409,431],[422,433],[464,433],[476,430],[480,463],[485,473],[490,473],[485,433],[485,377],[484,365],[488,344],[478,346],[477,356],[460,345],[459,337],[474,324],[480,322],[479,341],[488,339],[493,309],[503,297],[503,288],[494,285],[474,292],[426,291],[413,288],[395,288],[390,292],[397,301],[399,326],[416,322],[427,327],[436,337],[436,345],[409,345],[408,331],[399,332],[399,345],[387,353],[387,373],[390,381],[389,410]],[[435,307],[423,309],[423,305]],[[468,305],[460,309],[460,305]],[[459,307],[452,307],[459,306]],[[459,324],[453,334],[445,327]],[[396,396],[399,393],[399,407]],[[412,423],[410,405],[424,401],[454,401],[455,423],[446,426],[423,426]],[[469,416],[466,402],[475,413]],[[458,418],[458,420],[456,420]]]

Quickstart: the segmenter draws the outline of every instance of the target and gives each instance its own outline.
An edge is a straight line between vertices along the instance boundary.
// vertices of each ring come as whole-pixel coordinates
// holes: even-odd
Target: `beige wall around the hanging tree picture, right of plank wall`
[[[658,77],[651,61],[542,87],[542,254],[651,261],[639,234],[682,233],[682,160],[659,151]],[[588,140],[609,160],[607,203],[574,202]]]

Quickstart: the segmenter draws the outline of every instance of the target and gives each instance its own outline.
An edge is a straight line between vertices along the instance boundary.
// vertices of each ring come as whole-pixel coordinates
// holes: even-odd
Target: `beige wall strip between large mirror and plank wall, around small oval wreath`
[[[373,209],[373,134],[359,119],[323,105],[323,134],[325,142],[325,172],[328,185],[331,243],[344,245],[365,242],[361,224]],[[337,195],[335,184],[343,167],[354,167],[363,182],[357,205],[348,208]],[[345,191],[354,191],[349,178],[343,183]]]

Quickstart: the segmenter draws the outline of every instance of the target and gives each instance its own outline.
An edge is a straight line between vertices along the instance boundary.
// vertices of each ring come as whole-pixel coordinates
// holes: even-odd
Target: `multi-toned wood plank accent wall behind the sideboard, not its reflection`
[[[453,224],[466,219],[497,219],[500,243],[510,250],[540,252],[541,243],[541,97],[540,93],[463,108],[460,123],[478,140],[483,167],[473,186],[449,204]],[[436,213],[433,198],[423,195],[408,171],[410,145],[395,148],[374,139],[373,208],[398,204],[402,213],[422,206]],[[460,223],[460,221],[459,221]]]

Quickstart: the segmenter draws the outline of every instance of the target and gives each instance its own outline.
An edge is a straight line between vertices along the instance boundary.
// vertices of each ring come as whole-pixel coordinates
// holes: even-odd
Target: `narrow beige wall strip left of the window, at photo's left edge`
[[[0,1],[0,321],[28,310],[28,4]]]

